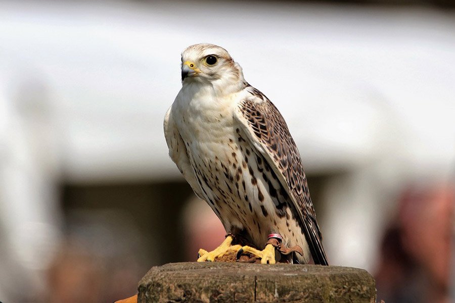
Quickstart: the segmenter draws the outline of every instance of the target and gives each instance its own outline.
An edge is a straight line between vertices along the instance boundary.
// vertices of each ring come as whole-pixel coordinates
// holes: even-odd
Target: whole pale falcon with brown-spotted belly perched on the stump
[[[299,151],[274,104],[213,44],[181,53],[181,82],[164,118],[169,156],[227,233],[197,261],[236,251],[328,265]]]

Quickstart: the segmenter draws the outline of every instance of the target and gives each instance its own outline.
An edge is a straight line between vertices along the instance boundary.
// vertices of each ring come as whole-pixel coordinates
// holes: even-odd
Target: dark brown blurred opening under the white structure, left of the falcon
[[[113,302],[133,294],[150,267],[185,260],[177,218],[190,194],[176,182],[64,186],[66,240],[44,301]]]

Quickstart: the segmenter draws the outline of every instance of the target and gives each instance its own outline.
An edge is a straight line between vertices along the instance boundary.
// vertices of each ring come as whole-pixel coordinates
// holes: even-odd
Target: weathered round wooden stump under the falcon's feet
[[[169,263],[152,267],[139,284],[149,302],[376,302],[363,269],[297,264]]]

